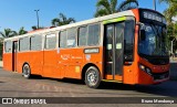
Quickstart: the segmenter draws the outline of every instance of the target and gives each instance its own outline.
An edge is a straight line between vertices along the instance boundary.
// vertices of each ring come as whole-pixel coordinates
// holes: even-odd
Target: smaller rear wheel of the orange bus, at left
[[[25,78],[30,78],[31,77],[31,68],[30,68],[29,64],[24,64],[23,65],[22,72],[23,72],[22,75]]]

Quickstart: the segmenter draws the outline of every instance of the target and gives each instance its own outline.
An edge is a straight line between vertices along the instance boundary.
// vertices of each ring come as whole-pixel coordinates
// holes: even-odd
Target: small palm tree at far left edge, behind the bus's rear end
[[[4,29],[3,32],[0,32],[0,35],[1,35],[2,38],[11,38],[11,36],[17,35],[17,32],[15,32],[15,31],[12,31],[11,29]]]

